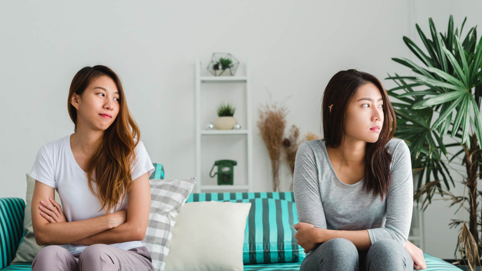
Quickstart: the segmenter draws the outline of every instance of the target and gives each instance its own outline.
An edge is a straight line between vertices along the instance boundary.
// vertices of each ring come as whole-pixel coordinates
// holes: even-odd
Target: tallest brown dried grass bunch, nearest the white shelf
[[[266,104],[258,108],[258,128],[261,137],[268,149],[271,160],[271,173],[273,175],[273,191],[280,190],[280,155],[283,141],[284,128],[286,127],[286,115],[288,109],[285,106],[278,107],[277,103]]]

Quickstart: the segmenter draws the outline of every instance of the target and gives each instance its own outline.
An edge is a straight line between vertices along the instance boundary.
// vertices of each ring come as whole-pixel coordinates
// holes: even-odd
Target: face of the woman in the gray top
[[[365,142],[376,142],[383,125],[383,100],[373,83],[358,88],[347,108],[345,135]],[[379,126],[378,129],[371,129]]]

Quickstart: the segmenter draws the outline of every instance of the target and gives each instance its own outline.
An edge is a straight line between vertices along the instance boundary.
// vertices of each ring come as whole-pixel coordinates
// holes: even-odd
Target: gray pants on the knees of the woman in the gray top
[[[345,238],[331,239],[308,255],[300,271],[413,271],[414,261],[398,242],[381,239],[359,252]]]

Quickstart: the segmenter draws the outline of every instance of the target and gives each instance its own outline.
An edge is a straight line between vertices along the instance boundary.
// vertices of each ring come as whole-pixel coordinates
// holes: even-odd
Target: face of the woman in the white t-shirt
[[[71,104],[77,109],[77,124],[105,131],[116,119],[120,109],[116,83],[108,76],[94,79],[82,93],[74,94]]]

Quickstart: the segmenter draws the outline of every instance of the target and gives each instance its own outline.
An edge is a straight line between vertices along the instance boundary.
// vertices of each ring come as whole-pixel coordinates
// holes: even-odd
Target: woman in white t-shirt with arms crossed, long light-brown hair
[[[34,235],[48,245],[32,270],[153,270],[141,240],[154,166],[119,77],[102,65],[82,68],[67,101],[74,133],[43,145],[30,172]]]

